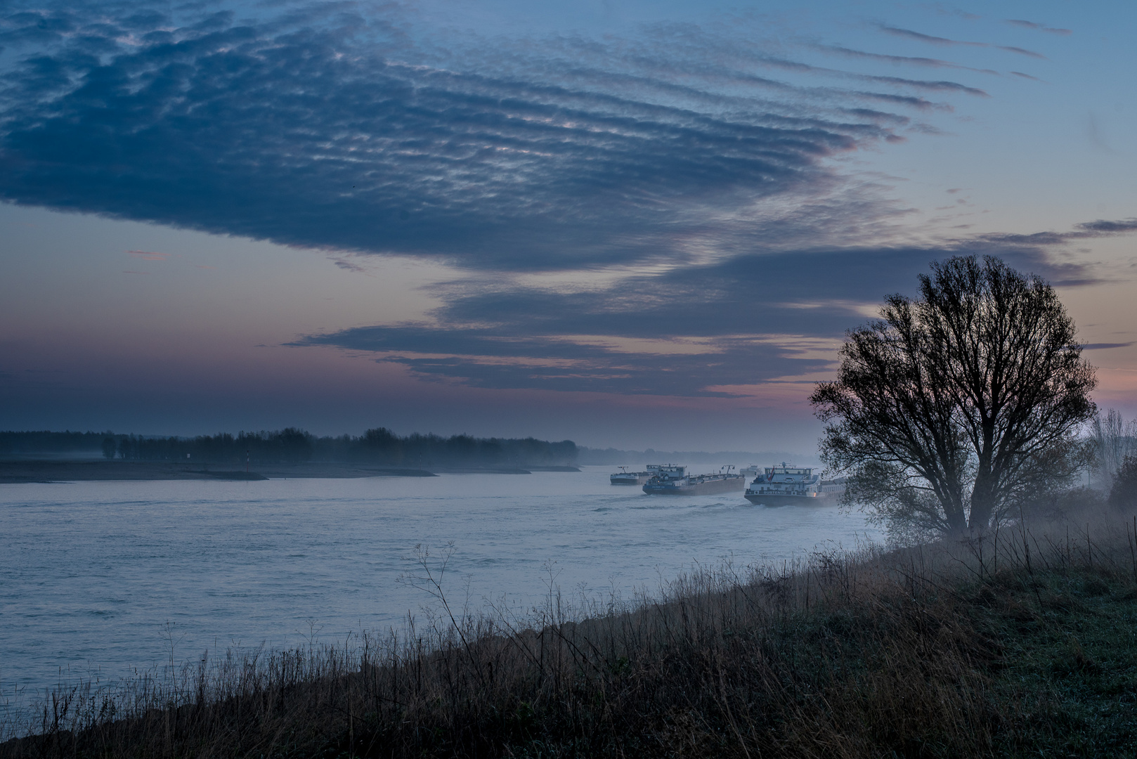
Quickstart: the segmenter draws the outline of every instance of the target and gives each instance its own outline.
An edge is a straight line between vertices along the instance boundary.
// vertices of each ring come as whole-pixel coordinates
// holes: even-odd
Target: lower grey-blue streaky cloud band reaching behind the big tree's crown
[[[474,387],[716,397],[829,371],[844,331],[886,295],[912,292],[931,261],[994,254],[1073,287],[1101,280],[1051,249],[1131,231],[1135,220],[1095,221],[1064,233],[974,236],[940,247],[749,253],[587,290],[475,279],[438,292],[443,305],[431,322],[310,335],[291,345],[371,352],[420,377]]]

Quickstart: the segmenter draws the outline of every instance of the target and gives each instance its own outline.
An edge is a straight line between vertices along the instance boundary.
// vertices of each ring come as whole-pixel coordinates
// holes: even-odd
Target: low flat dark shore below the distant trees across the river
[[[96,480],[209,480],[268,478],[434,477],[423,469],[366,467],[332,462],[258,464],[246,472],[233,464],[174,463],[163,461],[0,461],[0,484],[68,482]]]

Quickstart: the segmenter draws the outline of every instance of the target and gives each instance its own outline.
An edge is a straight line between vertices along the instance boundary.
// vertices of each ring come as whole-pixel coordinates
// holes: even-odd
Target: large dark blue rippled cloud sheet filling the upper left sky
[[[395,7],[0,8],[0,198],[483,269],[681,261],[711,216],[736,251],[923,96],[986,94],[690,25],[459,50]]]

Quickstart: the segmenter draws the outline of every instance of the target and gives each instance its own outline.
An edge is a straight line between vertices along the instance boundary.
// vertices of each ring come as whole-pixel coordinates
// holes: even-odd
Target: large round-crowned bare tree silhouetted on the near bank
[[[1054,289],[998,258],[957,256],[850,330],[837,381],[810,401],[846,503],[940,533],[982,530],[1085,461],[1094,368]]]

